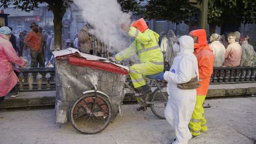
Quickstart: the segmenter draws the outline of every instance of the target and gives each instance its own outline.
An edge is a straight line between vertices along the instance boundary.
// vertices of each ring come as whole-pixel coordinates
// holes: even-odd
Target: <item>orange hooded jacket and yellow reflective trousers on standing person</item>
[[[189,130],[195,137],[200,135],[201,132],[207,131],[203,103],[213,72],[214,55],[210,46],[207,44],[204,29],[190,31],[189,35],[194,38],[194,54],[198,62],[199,79],[201,79],[201,82],[199,82],[201,87],[196,89],[196,105],[189,122]]]

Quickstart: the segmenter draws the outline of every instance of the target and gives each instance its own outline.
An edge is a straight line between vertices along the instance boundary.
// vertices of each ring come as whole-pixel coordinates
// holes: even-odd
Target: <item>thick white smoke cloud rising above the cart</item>
[[[130,44],[121,23],[130,26],[131,14],[122,12],[116,0],[76,0],[74,3],[81,9],[84,21],[93,26],[90,33],[105,43],[109,52],[119,52]]]

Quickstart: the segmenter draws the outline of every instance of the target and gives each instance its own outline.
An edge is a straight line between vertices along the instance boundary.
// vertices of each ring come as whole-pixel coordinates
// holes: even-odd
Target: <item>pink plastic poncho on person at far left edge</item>
[[[12,63],[20,67],[25,65],[25,61],[14,51],[8,37],[0,34],[0,97],[8,94],[19,81],[13,71]]]

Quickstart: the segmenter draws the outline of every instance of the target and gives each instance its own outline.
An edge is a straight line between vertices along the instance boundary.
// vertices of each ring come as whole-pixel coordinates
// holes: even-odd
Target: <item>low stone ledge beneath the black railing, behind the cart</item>
[[[211,97],[237,97],[237,95],[256,96],[256,83],[243,84],[214,84],[209,86],[206,98]],[[21,92],[17,98],[10,95],[1,103],[0,108],[54,106],[55,91]],[[135,100],[132,95],[127,94],[124,101]]]

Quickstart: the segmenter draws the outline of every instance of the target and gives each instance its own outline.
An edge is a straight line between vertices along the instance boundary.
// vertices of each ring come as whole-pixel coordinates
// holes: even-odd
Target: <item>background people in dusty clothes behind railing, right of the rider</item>
[[[161,33],[161,51],[164,54],[165,65],[171,66],[176,54],[173,45],[178,37],[172,30],[167,36]],[[242,35],[239,31],[231,32],[227,35],[211,34],[209,46],[214,54],[213,67],[252,67],[255,66],[256,53],[250,44],[250,37]]]

